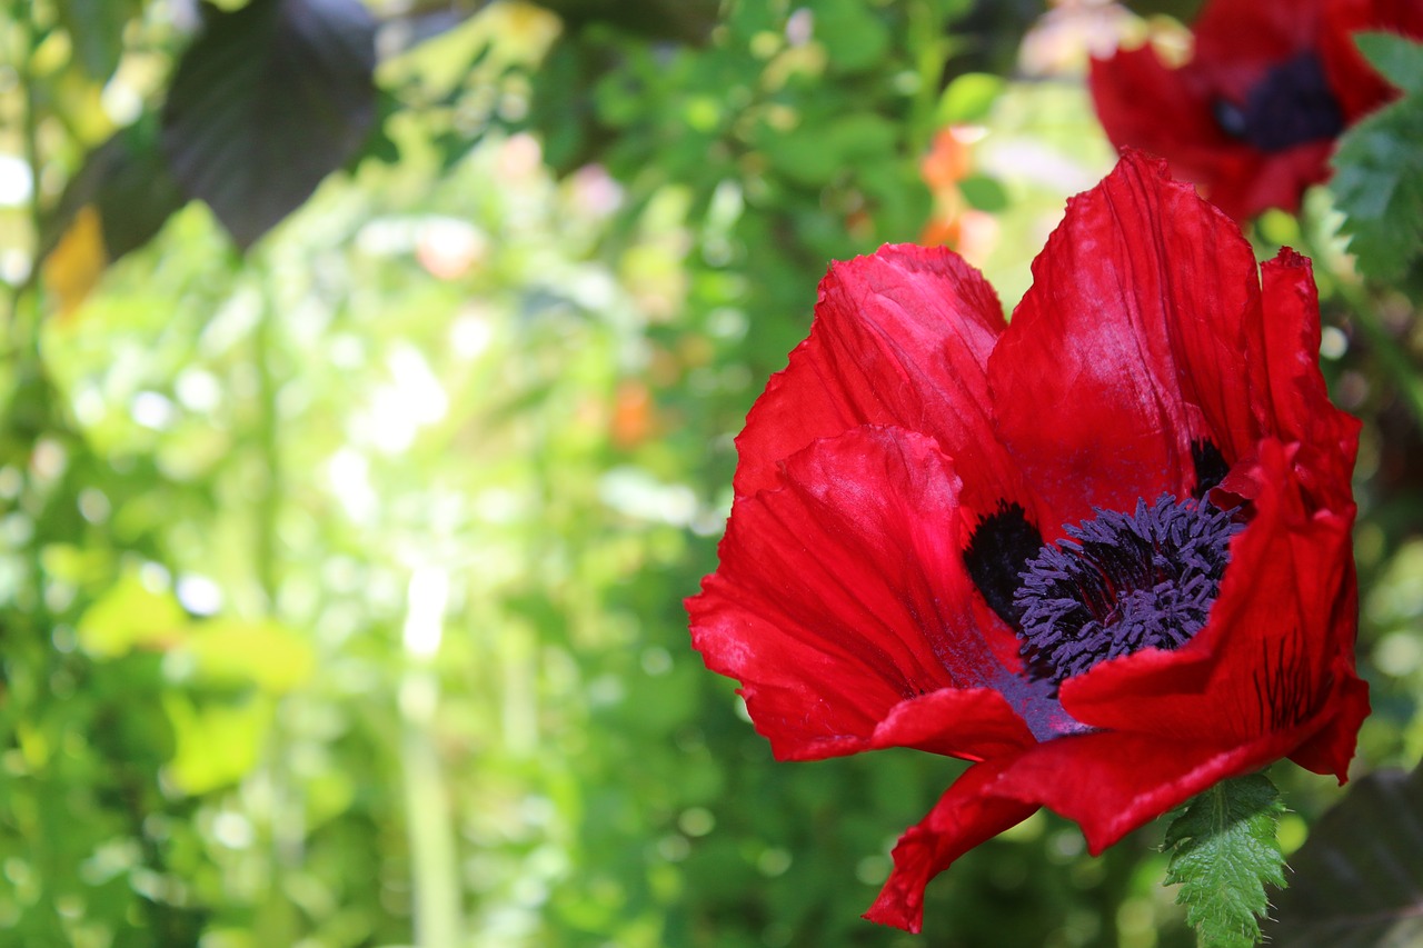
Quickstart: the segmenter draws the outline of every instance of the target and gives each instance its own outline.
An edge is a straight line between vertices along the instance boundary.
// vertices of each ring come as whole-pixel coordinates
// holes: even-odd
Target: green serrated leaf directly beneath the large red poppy
[[[1200,794],[1171,821],[1167,884],[1180,884],[1177,904],[1202,948],[1237,948],[1259,941],[1259,917],[1269,908],[1265,885],[1285,887],[1285,855],[1275,830],[1285,806],[1264,774],[1225,780]]]

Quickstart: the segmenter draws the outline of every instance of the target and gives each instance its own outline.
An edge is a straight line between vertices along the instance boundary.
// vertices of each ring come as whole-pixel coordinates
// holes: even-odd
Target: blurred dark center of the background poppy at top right
[[[1343,131],[1343,112],[1313,53],[1272,65],[1245,102],[1215,100],[1215,122],[1227,135],[1261,151],[1285,151]]]

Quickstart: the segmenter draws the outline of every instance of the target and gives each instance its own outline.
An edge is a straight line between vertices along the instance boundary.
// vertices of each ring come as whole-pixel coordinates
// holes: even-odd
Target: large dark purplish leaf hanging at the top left
[[[208,9],[164,110],[174,175],[246,249],[370,132],[376,26],[357,0]]]

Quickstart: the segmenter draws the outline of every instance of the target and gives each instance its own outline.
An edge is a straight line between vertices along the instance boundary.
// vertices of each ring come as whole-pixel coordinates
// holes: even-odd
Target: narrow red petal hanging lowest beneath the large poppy
[[[1017,826],[1036,803],[993,797],[985,789],[1016,757],[999,757],[965,770],[928,816],[905,830],[894,847],[894,871],[865,918],[915,934],[924,925],[924,887],[975,846]]]

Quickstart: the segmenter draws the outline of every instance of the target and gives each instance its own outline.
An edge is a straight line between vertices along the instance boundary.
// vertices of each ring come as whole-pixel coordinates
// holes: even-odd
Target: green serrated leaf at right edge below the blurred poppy
[[[1414,44],[1416,46],[1416,44]],[[1397,280],[1423,256],[1423,95],[1406,95],[1340,139],[1331,188],[1359,269]]]

